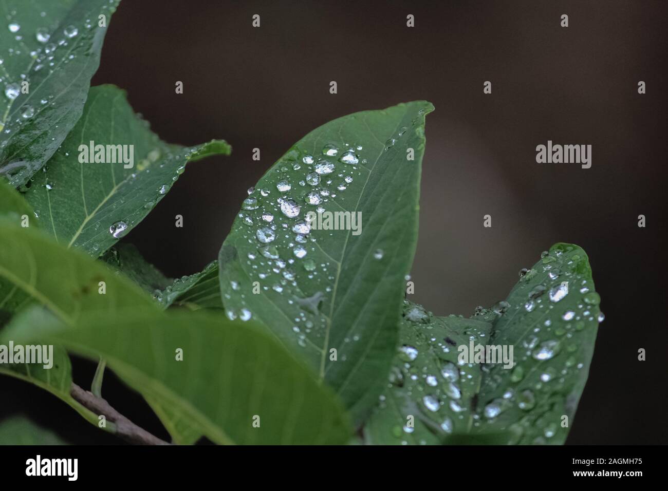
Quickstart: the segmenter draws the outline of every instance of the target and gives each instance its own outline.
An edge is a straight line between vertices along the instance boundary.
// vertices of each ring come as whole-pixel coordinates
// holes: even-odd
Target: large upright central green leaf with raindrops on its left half
[[[228,316],[267,325],[334,387],[357,422],[377,400],[395,350],[418,237],[424,119],[432,110],[410,102],[309,133],[259,180],[220,250]],[[305,216],[318,206],[361,212],[361,233],[294,232],[306,231]]]

